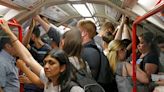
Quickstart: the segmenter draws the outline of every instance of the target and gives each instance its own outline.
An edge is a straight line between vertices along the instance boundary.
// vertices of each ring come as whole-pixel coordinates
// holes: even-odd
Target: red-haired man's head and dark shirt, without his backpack
[[[96,46],[94,36],[96,35],[96,26],[92,21],[80,20],[77,24],[82,37],[83,51],[81,57],[84,61],[87,61],[91,69],[93,78],[96,80],[99,73],[100,54],[94,48],[88,48],[87,46]],[[94,57],[94,58],[93,58]]]

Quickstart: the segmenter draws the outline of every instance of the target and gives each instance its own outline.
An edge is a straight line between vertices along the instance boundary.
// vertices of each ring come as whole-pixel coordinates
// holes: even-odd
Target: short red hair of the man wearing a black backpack
[[[77,27],[85,29],[89,33],[90,38],[96,35],[96,25],[90,20],[80,20]]]

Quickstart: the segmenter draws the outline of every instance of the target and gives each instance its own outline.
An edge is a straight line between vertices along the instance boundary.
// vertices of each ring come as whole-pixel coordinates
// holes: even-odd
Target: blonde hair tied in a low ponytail
[[[112,40],[108,44],[109,53],[107,54],[107,58],[113,73],[115,73],[116,65],[119,62],[117,51],[122,47],[124,47],[124,45],[121,40]]]

